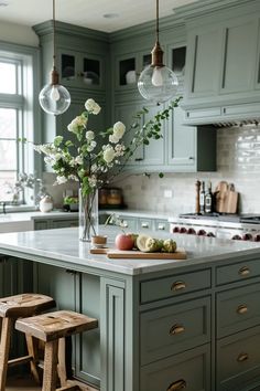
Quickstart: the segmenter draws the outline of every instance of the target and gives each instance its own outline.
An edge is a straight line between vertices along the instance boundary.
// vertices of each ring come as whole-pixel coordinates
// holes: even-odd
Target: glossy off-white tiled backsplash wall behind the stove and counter
[[[220,180],[235,183],[240,193],[239,211],[260,213],[260,125],[236,126],[217,130],[217,172],[172,173],[160,179],[155,173],[129,176],[115,183],[123,189],[131,209],[152,210],[177,215],[195,210],[196,180],[210,180],[213,189]],[[165,190],[172,198],[165,198]]]

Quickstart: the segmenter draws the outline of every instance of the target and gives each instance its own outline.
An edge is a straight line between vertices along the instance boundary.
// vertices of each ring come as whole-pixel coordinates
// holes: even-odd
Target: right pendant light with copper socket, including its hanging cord
[[[151,54],[152,63],[142,71],[138,88],[144,99],[160,104],[176,94],[178,82],[175,73],[163,64],[163,50],[159,43],[159,0],[156,0],[156,41]]]

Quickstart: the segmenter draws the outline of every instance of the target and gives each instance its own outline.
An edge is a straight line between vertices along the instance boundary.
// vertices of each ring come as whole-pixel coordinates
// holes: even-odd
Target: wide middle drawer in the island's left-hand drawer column
[[[189,300],[141,315],[141,364],[206,344],[210,339],[210,298]]]

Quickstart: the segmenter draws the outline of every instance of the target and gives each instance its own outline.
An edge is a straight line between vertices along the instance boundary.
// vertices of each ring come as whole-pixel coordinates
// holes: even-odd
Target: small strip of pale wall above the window
[[[35,32],[28,25],[14,24],[1,21],[0,23],[1,41],[37,46],[39,38]]]

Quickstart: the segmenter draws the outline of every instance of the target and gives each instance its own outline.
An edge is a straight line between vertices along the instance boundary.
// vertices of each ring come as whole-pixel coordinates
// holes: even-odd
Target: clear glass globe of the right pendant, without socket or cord
[[[138,81],[138,88],[144,99],[163,103],[177,92],[178,81],[172,70],[163,66],[147,66]]]

